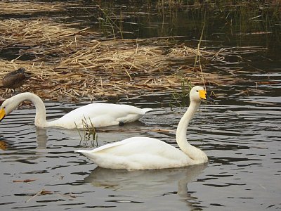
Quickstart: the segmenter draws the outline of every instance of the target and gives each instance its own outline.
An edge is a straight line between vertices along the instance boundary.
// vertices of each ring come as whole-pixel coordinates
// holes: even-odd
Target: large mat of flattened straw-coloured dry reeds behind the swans
[[[24,67],[33,77],[23,91],[42,98],[77,101],[81,97],[174,91],[181,89],[183,79],[202,84],[201,70],[193,66],[197,49],[165,39],[106,40],[99,32],[50,19],[0,20],[0,33],[0,48],[14,50],[17,46],[20,55],[0,60],[0,79]],[[225,56],[230,52],[233,49],[199,51],[201,63],[227,63]],[[30,60],[20,60],[22,56],[30,56]],[[207,84],[237,82],[231,75],[204,72]],[[0,87],[0,96],[5,95],[5,89]]]

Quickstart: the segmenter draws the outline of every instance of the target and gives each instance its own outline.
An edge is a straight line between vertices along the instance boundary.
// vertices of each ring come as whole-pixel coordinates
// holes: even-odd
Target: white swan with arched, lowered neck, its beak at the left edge
[[[151,108],[136,108],[129,105],[112,103],[91,103],[67,113],[58,120],[46,121],[46,108],[36,94],[25,92],[6,99],[0,110],[0,121],[15,110],[22,101],[31,101],[36,109],[34,124],[37,127],[63,127],[65,129],[83,129],[85,123],[91,127],[106,127],[126,122],[133,122],[145,115]],[[83,120],[83,121],[82,121]],[[90,121],[91,120],[91,121]]]

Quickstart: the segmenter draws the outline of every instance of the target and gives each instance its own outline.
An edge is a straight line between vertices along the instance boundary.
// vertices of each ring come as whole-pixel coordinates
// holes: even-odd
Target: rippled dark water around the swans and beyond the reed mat
[[[148,7],[150,10],[144,13],[146,4],[136,10],[123,1],[107,2],[114,2],[115,14],[122,11],[128,16],[122,19],[124,32],[130,32],[124,33],[124,38],[183,36],[179,42],[197,44],[206,20],[202,46],[260,46],[267,50],[237,66],[240,71],[235,77],[249,83],[207,87],[208,92],[214,90],[217,103],[202,103],[190,122],[188,139],[207,153],[208,165],[173,170],[105,170],[74,153],[78,148],[138,135],[177,147],[174,134],[186,108],[174,103],[176,108],[171,110],[169,93],[120,99],[119,103],[154,110],[140,122],[98,132],[97,140],[77,130],[39,129],[34,127],[33,107],[15,110],[0,123],[1,210],[281,210],[280,23],[269,15],[271,25],[264,22],[266,7],[259,8],[259,13],[243,14],[231,9],[223,12],[216,6],[206,11],[178,7],[162,15],[156,7]],[[63,18],[65,14],[48,15],[81,23],[81,27],[91,25],[96,29],[103,25],[110,34],[112,27],[99,22],[106,18],[105,13],[85,5],[78,11],[69,8],[69,18]],[[114,17],[112,11],[106,12]],[[206,70],[211,68],[229,67],[210,64]],[[86,103],[46,102],[47,117],[55,119]],[[28,179],[31,181],[24,182]]]

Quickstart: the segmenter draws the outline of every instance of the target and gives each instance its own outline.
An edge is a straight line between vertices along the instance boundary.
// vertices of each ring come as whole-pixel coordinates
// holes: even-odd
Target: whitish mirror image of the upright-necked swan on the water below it
[[[207,164],[175,169],[132,171],[97,167],[84,181],[95,187],[111,188],[121,192],[133,191],[137,192],[138,196],[145,197],[164,196],[177,189],[178,196],[191,198],[187,185],[194,181],[206,167]]]

